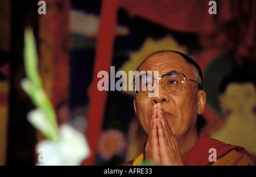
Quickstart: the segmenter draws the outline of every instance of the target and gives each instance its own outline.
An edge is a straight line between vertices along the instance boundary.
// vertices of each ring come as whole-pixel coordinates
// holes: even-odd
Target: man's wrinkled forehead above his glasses
[[[192,77],[192,66],[180,54],[172,52],[151,56],[139,68],[139,71],[159,71],[159,77],[173,70]]]

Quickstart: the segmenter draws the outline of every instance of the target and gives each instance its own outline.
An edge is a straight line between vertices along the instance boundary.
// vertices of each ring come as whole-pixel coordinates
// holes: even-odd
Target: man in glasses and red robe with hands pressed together
[[[144,151],[126,165],[253,165],[243,147],[197,132],[204,112],[203,74],[183,53],[162,50],[139,65],[133,80],[134,109],[147,134]]]

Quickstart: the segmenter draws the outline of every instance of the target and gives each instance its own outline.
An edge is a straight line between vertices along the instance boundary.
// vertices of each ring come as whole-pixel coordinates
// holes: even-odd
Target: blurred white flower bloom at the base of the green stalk
[[[69,124],[60,126],[58,143],[44,140],[36,146],[38,164],[44,166],[77,166],[89,156],[90,150],[84,134]]]

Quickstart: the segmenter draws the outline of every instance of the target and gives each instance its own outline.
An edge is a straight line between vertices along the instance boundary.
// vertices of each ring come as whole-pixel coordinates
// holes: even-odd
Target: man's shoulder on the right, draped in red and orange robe
[[[209,161],[210,150],[214,149],[217,162]],[[197,144],[183,156],[185,165],[255,165],[250,154],[242,146],[225,144],[207,134],[201,134]]]

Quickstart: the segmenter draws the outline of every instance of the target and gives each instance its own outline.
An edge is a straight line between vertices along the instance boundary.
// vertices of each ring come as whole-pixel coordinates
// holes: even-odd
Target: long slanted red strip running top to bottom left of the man
[[[113,43],[117,27],[117,10],[119,0],[104,0],[101,6],[100,27],[97,36],[96,58],[94,61],[93,80],[89,88],[88,125],[86,138],[89,142],[90,157],[86,158],[83,165],[95,165],[100,138],[102,121],[105,112],[105,103],[108,91],[99,91],[97,78],[99,71],[110,71],[112,64]]]

